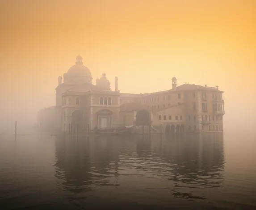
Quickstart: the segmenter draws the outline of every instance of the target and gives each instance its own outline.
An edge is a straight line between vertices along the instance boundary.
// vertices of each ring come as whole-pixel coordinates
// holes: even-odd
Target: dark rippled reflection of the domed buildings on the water
[[[190,134],[175,139],[153,135],[151,139],[56,137],[55,143],[56,177],[67,192],[97,192],[102,186],[111,187],[109,191],[113,187],[126,188],[129,184],[120,184],[119,179],[127,180],[129,176],[158,178],[170,195],[187,199],[206,198],[202,189],[222,186],[222,133]]]

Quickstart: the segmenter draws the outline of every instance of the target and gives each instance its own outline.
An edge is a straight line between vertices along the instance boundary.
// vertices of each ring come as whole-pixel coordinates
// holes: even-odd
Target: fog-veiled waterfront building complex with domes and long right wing
[[[177,79],[173,77],[170,89],[164,91],[120,93],[118,77],[111,90],[105,72],[93,85],[92,73],[80,55],[58,81],[55,106],[38,112],[38,124],[46,129],[88,131],[128,125],[138,127],[144,123],[158,132],[223,130],[223,91],[218,86],[177,86]]]

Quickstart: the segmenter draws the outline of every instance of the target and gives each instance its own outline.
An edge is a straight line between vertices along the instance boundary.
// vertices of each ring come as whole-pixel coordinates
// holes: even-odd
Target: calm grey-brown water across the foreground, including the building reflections
[[[256,209],[253,135],[0,136],[0,209]]]

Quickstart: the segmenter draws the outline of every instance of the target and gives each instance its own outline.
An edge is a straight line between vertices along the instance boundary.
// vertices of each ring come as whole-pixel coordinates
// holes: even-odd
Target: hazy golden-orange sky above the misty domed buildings
[[[256,127],[256,0],[0,0],[2,123],[54,105],[79,53],[121,92],[218,85],[226,129]]]

